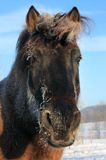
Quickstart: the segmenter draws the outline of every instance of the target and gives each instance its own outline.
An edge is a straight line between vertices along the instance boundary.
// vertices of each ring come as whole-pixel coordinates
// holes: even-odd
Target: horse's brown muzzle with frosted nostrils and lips
[[[53,147],[66,147],[74,143],[81,117],[78,109],[69,117],[60,112],[45,109],[41,117],[42,128],[49,133],[48,144]]]

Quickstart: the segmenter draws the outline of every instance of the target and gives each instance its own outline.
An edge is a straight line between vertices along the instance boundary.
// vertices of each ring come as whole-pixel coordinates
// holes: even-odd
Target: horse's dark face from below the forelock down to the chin
[[[48,133],[48,141],[54,146],[73,143],[79,126],[80,58],[78,47],[61,44],[41,51],[35,48],[31,57],[28,86],[39,104],[41,129]]]

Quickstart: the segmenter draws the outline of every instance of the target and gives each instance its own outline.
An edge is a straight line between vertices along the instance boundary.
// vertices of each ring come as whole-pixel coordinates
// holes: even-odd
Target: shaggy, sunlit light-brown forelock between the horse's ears
[[[67,33],[67,42],[72,42],[78,37],[83,29],[83,17],[80,22],[74,22],[66,16],[66,14],[58,13],[55,16],[45,14],[37,24],[36,30],[41,32],[48,39],[61,40]]]

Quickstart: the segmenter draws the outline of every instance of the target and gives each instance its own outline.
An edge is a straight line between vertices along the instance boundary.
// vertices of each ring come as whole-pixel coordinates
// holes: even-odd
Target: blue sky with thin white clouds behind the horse
[[[106,1],[105,0],[18,0],[0,2],[0,79],[10,71],[15,46],[31,5],[41,12],[68,12],[77,6],[81,15],[93,20],[90,34],[78,40],[83,60],[80,65],[82,107],[106,103]]]

